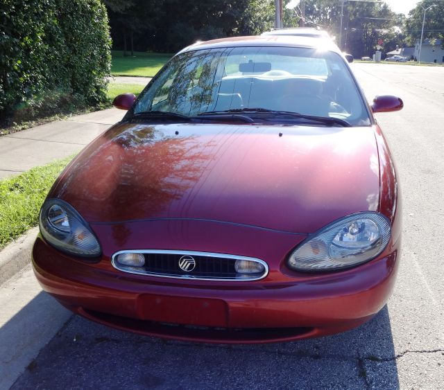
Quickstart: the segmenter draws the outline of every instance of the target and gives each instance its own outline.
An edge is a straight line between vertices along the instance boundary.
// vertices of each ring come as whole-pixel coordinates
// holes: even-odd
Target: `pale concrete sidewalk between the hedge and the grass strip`
[[[104,109],[0,136],[0,179],[79,152],[124,114]]]

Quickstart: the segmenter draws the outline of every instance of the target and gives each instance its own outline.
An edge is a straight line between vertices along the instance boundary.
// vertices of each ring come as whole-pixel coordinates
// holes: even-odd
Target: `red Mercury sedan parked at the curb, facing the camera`
[[[46,292],[114,328],[200,342],[329,335],[373,317],[400,256],[395,166],[339,49],[236,37],[174,56],[53,185]]]

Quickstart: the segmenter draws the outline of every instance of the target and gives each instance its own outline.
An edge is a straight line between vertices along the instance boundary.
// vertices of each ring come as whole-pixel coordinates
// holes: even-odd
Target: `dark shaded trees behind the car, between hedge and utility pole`
[[[116,6],[117,3],[117,6]],[[255,35],[273,26],[273,0],[106,0],[114,48],[175,52],[196,40]]]

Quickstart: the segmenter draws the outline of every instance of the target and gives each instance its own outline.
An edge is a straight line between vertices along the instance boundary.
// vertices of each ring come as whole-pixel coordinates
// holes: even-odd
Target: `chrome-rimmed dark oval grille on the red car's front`
[[[145,264],[135,267],[133,265],[119,263],[121,254],[141,254]],[[180,260],[184,259],[182,268]],[[187,265],[194,268],[186,270]],[[250,274],[239,273],[234,267],[236,260],[248,260],[263,266],[262,272]],[[191,264],[190,264],[191,263]],[[167,251],[167,250],[128,250],[119,251],[112,256],[114,268],[130,274],[144,274],[164,278],[190,278],[196,280],[221,280],[221,281],[256,281],[268,274],[268,266],[263,260],[246,256],[228,254],[215,254],[210,252],[195,251]]]

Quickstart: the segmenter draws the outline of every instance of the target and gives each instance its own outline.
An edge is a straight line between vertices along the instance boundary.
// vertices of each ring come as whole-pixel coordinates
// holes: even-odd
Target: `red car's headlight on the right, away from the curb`
[[[357,213],[327,225],[291,254],[288,265],[297,271],[334,271],[375,258],[391,236],[390,222],[379,213]]]

